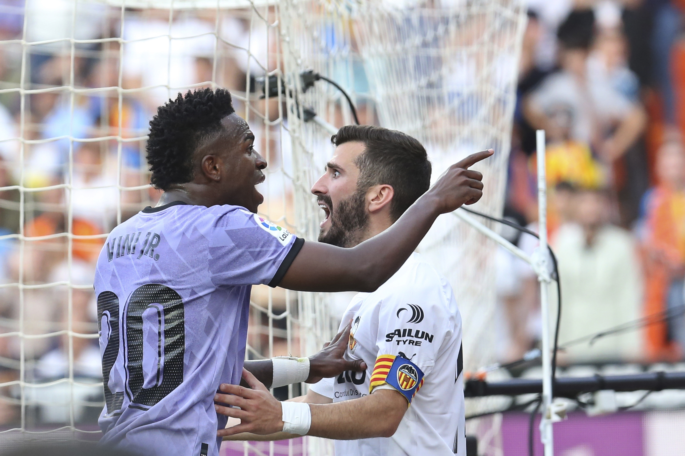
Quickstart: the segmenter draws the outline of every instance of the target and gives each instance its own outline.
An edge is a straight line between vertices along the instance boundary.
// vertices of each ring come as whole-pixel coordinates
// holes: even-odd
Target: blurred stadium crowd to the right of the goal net
[[[679,1],[531,1],[505,215],[537,229],[535,130],[547,132],[548,234],[567,361],[681,360],[685,73]],[[530,235],[511,239],[532,251]],[[521,358],[539,337],[536,277],[499,254],[499,296]],[[585,336],[631,328],[612,336]]]

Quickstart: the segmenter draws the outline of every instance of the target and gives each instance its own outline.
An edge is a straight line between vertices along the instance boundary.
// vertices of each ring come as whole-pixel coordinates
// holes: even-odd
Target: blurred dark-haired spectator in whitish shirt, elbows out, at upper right
[[[621,157],[643,132],[643,109],[618,92],[606,77],[588,72],[594,14],[574,11],[560,26],[559,64],[527,100],[525,113],[536,128],[549,129],[547,112],[564,105],[571,110],[571,138],[597,150],[606,161]],[[553,128],[553,127],[552,127]]]

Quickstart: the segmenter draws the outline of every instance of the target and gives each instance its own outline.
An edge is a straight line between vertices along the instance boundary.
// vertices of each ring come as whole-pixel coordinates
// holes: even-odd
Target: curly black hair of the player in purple
[[[173,184],[190,182],[195,150],[221,131],[221,119],[234,112],[226,89],[188,90],[185,96],[179,93],[158,107],[145,147],[152,185],[167,190]]]

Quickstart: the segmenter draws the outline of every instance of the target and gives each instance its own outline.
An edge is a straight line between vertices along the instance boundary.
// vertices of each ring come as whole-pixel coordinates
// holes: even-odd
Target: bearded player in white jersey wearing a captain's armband
[[[428,189],[431,165],[423,146],[397,131],[344,126],[332,142],[334,156],[312,187],[325,212],[319,241],[353,247],[389,228]],[[310,404],[293,422],[306,423],[310,412],[306,433],[336,439],[336,456],[465,455],[462,321],[447,280],[414,253],[376,291],[356,295],[342,321],[353,321],[346,356],[368,368],[323,379],[293,399]],[[257,392],[229,386],[221,390],[242,397],[216,397],[242,409],[217,406],[242,420],[219,435],[278,440],[305,431],[286,423],[292,405],[245,377]],[[253,434],[282,427],[290,433]]]

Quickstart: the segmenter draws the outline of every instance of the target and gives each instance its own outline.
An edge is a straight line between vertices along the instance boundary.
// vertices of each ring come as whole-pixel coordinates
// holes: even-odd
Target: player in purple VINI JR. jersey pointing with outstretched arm
[[[223,89],[179,94],[150,122],[147,161],[162,196],[112,230],[95,274],[104,445],[217,456],[226,417],[214,394],[240,381],[251,286],[374,291],[438,215],[481,198],[482,174],[468,168],[493,153],[452,165],[392,227],[343,248],[305,242],[256,215],[266,161],[253,142]],[[273,387],[363,370],[342,358],[346,334],[312,358],[245,365]]]

